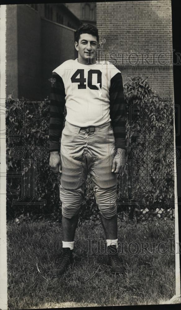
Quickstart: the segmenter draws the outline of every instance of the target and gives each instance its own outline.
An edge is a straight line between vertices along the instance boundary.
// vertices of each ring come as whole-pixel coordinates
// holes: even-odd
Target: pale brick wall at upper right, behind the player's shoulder
[[[103,52],[115,54],[113,57],[117,65],[126,76],[151,75],[150,86],[160,96],[173,97],[173,71],[172,66],[172,19],[171,1],[124,1],[124,2],[97,2],[97,28],[100,40],[106,38]],[[137,53],[139,59],[132,55],[132,64],[128,65],[128,57]],[[140,65],[140,56],[149,54],[149,62],[152,63],[153,53],[156,53],[155,64]],[[162,63],[159,64],[157,55],[161,55]],[[112,57],[112,56],[111,56]],[[137,65],[133,65],[138,60]],[[143,58],[142,58],[143,60]],[[114,62],[113,62],[114,63]]]

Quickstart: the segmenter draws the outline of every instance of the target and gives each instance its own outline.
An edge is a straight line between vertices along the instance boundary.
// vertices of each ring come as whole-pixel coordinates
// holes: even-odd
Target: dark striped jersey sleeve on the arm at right
[[[115,136],[116,147],[126,146],[126,126],[125,126],[125,101],[123,90],[123,79],[121,73],[115,74],[111,78],[109,89],[110,117]]]

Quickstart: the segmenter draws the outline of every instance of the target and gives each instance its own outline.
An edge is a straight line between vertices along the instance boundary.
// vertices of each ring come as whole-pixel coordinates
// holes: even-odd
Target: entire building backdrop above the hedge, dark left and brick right
[[[106,38],[103,52],[124,82],[126,76],[149,75],[160,96],[173,97],[170,0],[7,5],[7,95],[49,96],[52,69],[77,57],[74,37],[81,23],[97,25],[100,41]],[[154,53],[166,53],[160,55],[166,64],[142,62],[140,55],[151,63]]]

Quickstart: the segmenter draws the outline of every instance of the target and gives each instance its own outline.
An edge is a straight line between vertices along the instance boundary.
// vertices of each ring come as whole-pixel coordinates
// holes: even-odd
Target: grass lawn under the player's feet
[[[114,275],[106,254],[87,254],[87,238],[102,238],[101,225],[79,225],[75,237],[75,262],[62,277],[52,277],[61,255],[61,225],[49,222],[7,224],[8,306],[10,309],[158,304],[175,294],[175,255],[161,254],[159,242],[174,238],[174,222],[149,225],[121,224],[119,241],[156,242],[153,251],[122,254],[126,276]],[[89,241],[90,244],[90,241]],[[132,253],[135,245],[130,248]],[[165,250],[165,247],[160,247]],[[120,253],[121,247],[118,247]],[[95,252],[95,250],[94,250]],[[119,254],[121,255],[121,254]]]

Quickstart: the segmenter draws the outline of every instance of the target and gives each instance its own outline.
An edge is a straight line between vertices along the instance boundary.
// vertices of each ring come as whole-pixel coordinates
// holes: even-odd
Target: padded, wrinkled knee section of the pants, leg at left
[[[79,213],[82,203],[82,195],[84,191],[82,188],[76,190],[65,189],[60,185],[60,200],[62,202],[62,215],[68,219]]]

